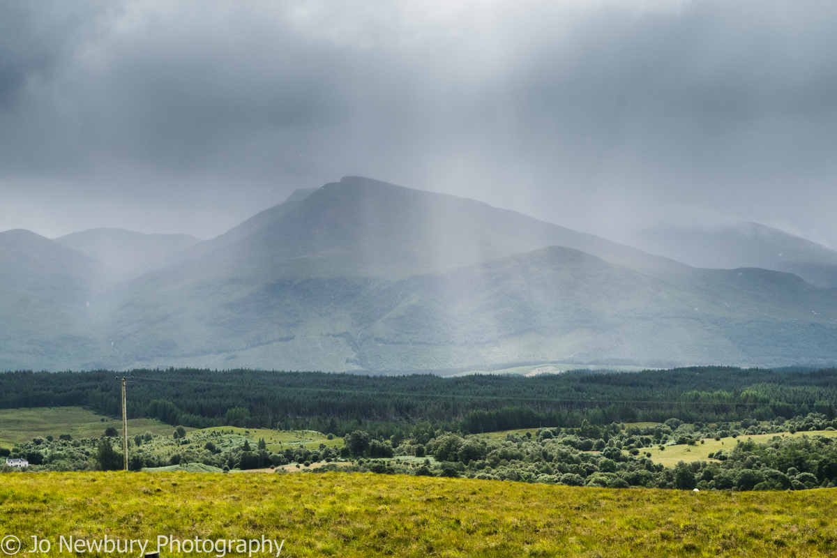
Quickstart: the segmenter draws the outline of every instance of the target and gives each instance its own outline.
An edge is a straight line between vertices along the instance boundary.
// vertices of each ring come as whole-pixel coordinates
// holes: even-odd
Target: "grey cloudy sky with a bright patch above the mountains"
[[[0,230],[210,238],[345,175],[837,247],[833,0],[0,3]]]

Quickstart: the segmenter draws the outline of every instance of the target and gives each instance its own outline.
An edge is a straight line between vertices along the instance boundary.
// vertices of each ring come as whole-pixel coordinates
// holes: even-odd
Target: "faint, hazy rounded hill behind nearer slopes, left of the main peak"
[[[144,234],[121,228],[91,228],[55,238],[55,242],[98,259],[111,281],[160,269],[186,248],[201,242],[188,234]]]

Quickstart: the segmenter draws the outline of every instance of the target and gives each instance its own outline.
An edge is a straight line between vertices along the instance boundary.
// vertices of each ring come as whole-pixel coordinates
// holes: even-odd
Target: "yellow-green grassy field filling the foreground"
[[[33,535],[50,541],[41,556],[59,555],[61,535],[150,540],[149,550],[157,550],[158,535],[264,537],[285,540],[282,556],[833,556],[835,505],[837,489],[693,493],[345,473],[14,473],[0,484],[0,534],[17,536],[18,555],[27,558]],[[167,547],[161,555],[196,554]]]

